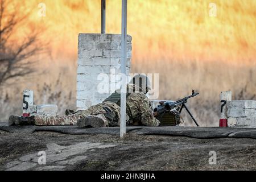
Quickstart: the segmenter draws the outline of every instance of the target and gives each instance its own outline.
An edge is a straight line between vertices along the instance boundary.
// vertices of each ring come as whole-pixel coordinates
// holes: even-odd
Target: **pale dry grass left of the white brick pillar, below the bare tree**
[[[76,109],[76,67],[53,63],[52,67],[39,70],[38,75],[2,87],[0,121],[6,121],[11,114],[22,114],[24,89],[34,90],[34,104],[56,104],[60,114],[64,114],[67,108]]]

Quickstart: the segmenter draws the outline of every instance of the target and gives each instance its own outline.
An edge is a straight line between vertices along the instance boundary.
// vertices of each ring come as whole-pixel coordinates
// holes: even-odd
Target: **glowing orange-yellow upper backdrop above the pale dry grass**
[[[18,1],[18,0],[16,0]],[[38,16],[38,4],[46,16]],[[214,2],[217,16],[210,17]],[[100,32],[100,0],[27,0],[28,24],[47,27],[54,60],[76,60],[80,32]],[[256,61],[255,0],[128,0],[133,62],[140,60]],[[106,0],[106,32],[121,32],[121,0]]]

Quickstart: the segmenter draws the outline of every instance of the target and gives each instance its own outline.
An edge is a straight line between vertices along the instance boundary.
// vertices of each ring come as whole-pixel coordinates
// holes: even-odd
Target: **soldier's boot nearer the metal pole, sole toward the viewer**
[[[104,119],[95,115],[89,115],[88,117],[81,118],[76,124],[78,127],[106,127]]]

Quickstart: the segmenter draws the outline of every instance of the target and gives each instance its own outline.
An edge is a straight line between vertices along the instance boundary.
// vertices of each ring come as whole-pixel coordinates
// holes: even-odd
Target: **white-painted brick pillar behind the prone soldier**
[[[77,109],[87,109],[101,103],[120,87],[121,35],[79,34],[78,49]],[[130,65],[131,36],[127,35],[127,74]],[[102,89],[106,84],[108,89],[106,86]]]

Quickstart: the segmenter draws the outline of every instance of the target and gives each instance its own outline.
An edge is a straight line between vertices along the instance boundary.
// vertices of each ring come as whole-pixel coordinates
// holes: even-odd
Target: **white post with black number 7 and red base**
[[[220,94],[220,127],[228,126],[228,117],[226,115],[227,107],[226,101],[232,100],[232,92],[226,91]]]

